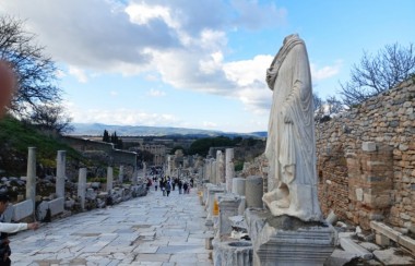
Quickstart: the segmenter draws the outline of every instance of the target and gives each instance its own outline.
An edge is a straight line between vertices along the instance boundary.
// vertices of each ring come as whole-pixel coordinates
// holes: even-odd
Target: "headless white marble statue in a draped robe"
[[[284,39],[266,72],[266,82],[273,100],[265,148],[269,192],[262,200],[274,216],[321,220],[310,65],[298,35]]]

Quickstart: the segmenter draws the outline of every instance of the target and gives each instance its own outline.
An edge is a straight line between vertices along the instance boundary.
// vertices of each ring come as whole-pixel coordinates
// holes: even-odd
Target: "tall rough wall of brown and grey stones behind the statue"
[[[316,128],[324,215],[369,229],[415,226],[415,84],[406,82]]]

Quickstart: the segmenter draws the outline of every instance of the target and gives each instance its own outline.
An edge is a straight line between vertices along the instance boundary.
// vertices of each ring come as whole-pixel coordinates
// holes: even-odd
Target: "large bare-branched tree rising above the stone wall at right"
[[[401,47],[388,45],[375,57],[366,51],[359,65],[353,65],[351,81],[341,85],[343,104],[348,108],[393,88],[415,73],[413,44]]]

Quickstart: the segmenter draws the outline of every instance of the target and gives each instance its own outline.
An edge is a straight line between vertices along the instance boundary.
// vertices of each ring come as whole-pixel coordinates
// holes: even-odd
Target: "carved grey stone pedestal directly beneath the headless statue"
[[[336,243],[335,230],[325,221],[306,222],[249,208],[245,219],[256,266],[323,265]]]

